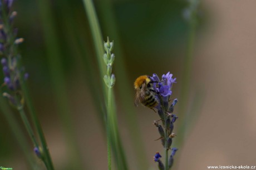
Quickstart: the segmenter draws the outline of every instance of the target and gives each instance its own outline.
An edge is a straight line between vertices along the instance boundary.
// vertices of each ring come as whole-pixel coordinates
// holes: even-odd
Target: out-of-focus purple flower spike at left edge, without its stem
[[[20,55],[17,53],[18,45],[23,42],[23,38],[16,38],[17,29],[12,28],[12,22],[17,12],[10,12],[12,0],[4,0],[0,3],[0,57],[3,66],[3,86],[7,87],[7,99],[16,107],[22,106],[23,98],[21,94],[21,85],[28,78],[24,73],[24,68],[20,66]],[[3,10],[4,9],[4,10]],[[12,47],[10,50],[8,47]],[[17,101],[13,101],[17,100]]]

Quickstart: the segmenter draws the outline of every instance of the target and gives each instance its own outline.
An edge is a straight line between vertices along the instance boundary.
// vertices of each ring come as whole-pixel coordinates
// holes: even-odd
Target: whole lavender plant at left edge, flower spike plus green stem
[[[25,85],[25,81],[28,79],[28,73],[24,71],[24,67],[21,64],[21,55],[17,50],[18,44],[23,42],[23,38],[17,38],[18,30],[17,28],[13,28],[13,19],[16,17],[17,12],[11,11],[12,3],[12,0],[0,1],[0,56],[4,75],[2,87],[5,87],[3,96],[6,97],[9,104],[19,112],[28,135],[33,142],[36,155],[42,159],[47,169],[53,169],[45,137],[43,136],[35,112],[32,111],[32,120],[33,123],[35,123],[36,131],[40,136],[42,147],[40,146],[31,123],[28,121],[26,112],[24,111],[25,98],[28,99],[28,91]],[[30,110],[33,110],[31,109],[31,106],[29,106],[29,108]]]

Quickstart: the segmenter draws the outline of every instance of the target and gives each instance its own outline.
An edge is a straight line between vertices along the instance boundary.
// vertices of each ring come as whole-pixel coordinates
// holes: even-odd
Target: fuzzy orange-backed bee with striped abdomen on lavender
[[[159,104],[156,98],[156,91],[154,90],[153,83],[159,83],[152,81],[150,76],[142,75],[139,76],[134,82],[134,88],[136,90],[134,104],[138,106],[139,102],[144,106],[153,109]],[[153,109],[154,110],[154,109]]]

